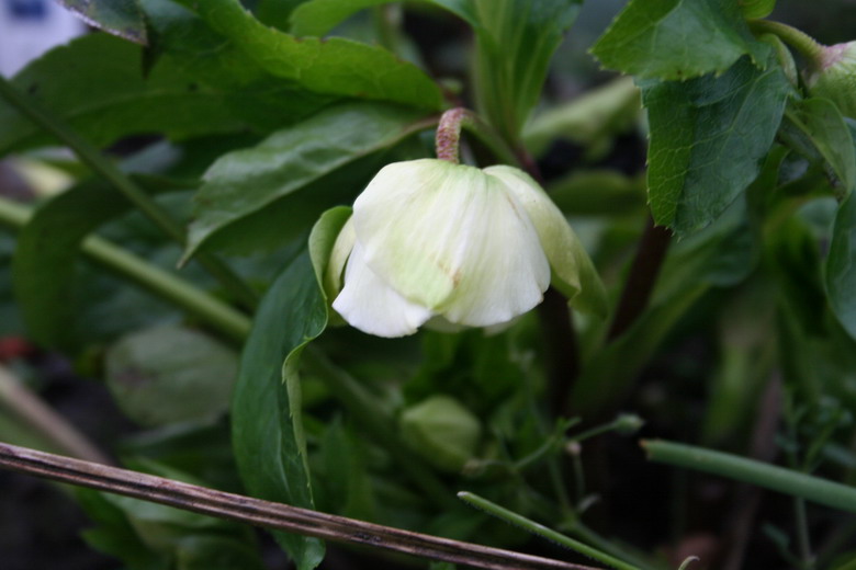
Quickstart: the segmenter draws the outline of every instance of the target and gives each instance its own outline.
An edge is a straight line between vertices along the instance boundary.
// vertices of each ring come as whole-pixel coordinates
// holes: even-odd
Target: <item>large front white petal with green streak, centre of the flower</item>
[[[353,223],[372,270],[451,322],[505,322],[534,307],[550,283],[517,198],[472,167],[390,164],[354,203]]]

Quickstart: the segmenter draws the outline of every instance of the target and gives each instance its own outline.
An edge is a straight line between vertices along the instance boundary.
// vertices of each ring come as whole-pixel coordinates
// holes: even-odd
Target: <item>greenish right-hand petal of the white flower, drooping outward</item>
[[[606,288],[579,238],[541,186],[525,172],[506,166],[488,167],[520,201],[531,218],[553,270],[553,286],[579,310],[605,318],[609,312]]]

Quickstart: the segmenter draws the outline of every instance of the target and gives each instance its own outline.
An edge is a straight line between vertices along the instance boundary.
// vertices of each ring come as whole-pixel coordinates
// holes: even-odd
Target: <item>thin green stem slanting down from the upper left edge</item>
[[[50,133],[59,140],[68,145],[78,156],[81,162],[87,164],[93,172],[97,172],[116,190],[122,192],[132,204],[139,208],[164,233],[176,240],[182,247],[185,243],[187,236],[181,225],[172,216],[151,200],[139,186],[137,186],[128,176],[126,176],[113,162],[104,158],[101,152],[81,138],[74,129],[61,122],[59,118],[50,115],[41,109],[36,103],[22,95],[12,83],[0,76],[0,98],[5,99],[12,106],[22,114],[30,117],[33,123]],[[255,309],[258,305],[256,293],[237,276],[232,269],[219,259],[209,254],[199,253],[199,262],[211,273],[236,299],[244,306]]]

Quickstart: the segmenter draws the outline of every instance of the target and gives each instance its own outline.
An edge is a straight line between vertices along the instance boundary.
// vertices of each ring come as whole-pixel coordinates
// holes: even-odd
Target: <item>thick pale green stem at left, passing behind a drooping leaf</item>
[[[20,229],[26,225],[31,215],[26,206],[0,198],[0,225]],[[94,261],[183,308],[230,339],[244,342],[249,334],[250,320],[244,314],[108,240],[90,236],[81,243],[81,250]]]

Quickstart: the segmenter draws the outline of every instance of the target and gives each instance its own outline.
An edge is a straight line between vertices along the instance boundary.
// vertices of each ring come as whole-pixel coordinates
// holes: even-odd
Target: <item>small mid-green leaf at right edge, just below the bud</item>
[[[851,129],[838,107],[826,99],[791,101],[780,135],[809,160],[824,161],[843,186],[841,196],[856,187],[856,150]]]

